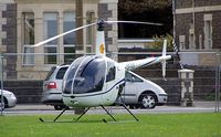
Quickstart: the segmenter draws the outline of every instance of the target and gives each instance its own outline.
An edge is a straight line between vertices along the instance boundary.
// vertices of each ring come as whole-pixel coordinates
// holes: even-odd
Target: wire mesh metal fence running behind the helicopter
[[[117,57],[118,62],[144,59],[147,56],[158,56],[158,52],[138,52],[108,54],[110,57]],[[140,76],[160,85],[168,94],[168,105],[180,105],[181,102],[181,80],[178,74],[180,70],[179,61],[176,54],[172,60],[167,63],[167,81],[161,76],[161,65],[143,67],[134,71]],[[27,54],[25,54],[27,55]],[[42,84],[46,73],[51,66],[63,64],[66,61],[65,55],[70,54],[46,54],[55,55],[55,64],[45,64],[45,54],[29,54],[33,57],[33,63],[24,61],[23,54],[3,54],[3,77],[2,85],[4,89],[9,89],[18,97],[18,104],[40,104],[42,95]],[[81,56],[80,54],[75,54]],[[29,56],[30,57],[30,56]],[[12,60],[15,59],[15,60]],[[185,68],[193,70],[193,101],[214,102],[214,109],[219,112],[220,107],[220,53],[217,52],[180,52],[180,59]],[[54,59],[53,59],[54,60]],[[3,65],[2,65],[3,64]],[[2,72],[2,71],[1,71]]]

